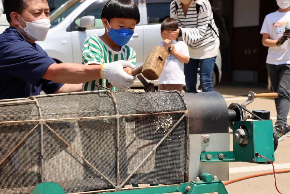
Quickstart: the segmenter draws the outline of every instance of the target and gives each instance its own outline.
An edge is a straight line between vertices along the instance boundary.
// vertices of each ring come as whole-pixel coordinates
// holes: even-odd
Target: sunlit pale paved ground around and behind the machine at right
[[[133,88],[135,90],[142,90],[140,88]],[[254,93],[268,93],[267,84],[247,84],[247,83],[233,83],[224,82],[215,87],[215,91],[221,93],[225,98],[227,105],[231,103],[239,103],[247,100],[249,91]],[[277,112],[275,108],[274,99],[255,98],[254,101],[247,106],[247,109],[252,110],[268,110],[270,111],[270,117],[275,125],[277,119]],[[288,123],[290,124],[290,113],[288,113]],[[233,133],[229,129],[230,133],[230,151],[233,151]],[[275,171],[290,170],[290,137],[282,140],[278,144],[278,148],[275,152]],[[288,150],[288,151],[287,151]],[[262,165],[244,162],[231,162],[229,164],[229,180],[238,179],[244,176],[273,172],[272,165]],[[218,176],[218,175],[217,175]],[[224,183],[227,181],[223,181]],[[290,173],[276,174],[276,183],[278,190],[287,194],[290,193]],[[140,185],[141,186],[141,185]],[[144,185],[145,186],[145,185]],[[275,187],[274,176],[265,175],[254,177],[250,179],[241,180],[238,182],[226,185],[229,194],[275,194],[278,193]],[[215,193],[216,194],[216,193]]]

